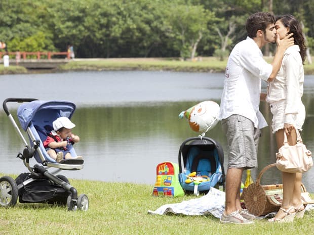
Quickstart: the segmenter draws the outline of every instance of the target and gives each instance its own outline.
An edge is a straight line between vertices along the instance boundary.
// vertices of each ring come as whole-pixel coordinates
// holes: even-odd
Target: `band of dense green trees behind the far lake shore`
[[[272,10],[302,21],[308,46],[314,49],[314,0],[271,2],[3,0],[0,41],[9,51],[66,51],[73,44],[76,57],[83,58],[212,56],[217,48],[231,50],[246,37],[250,14]]]

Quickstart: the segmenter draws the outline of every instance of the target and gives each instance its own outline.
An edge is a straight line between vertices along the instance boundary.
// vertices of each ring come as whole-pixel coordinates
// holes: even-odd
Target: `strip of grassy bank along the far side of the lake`
[[[270,62],[271,57],[265,57]],[[23,66],[0,64],[0,75],[55,73],[68,71],[173,71],[173,72],[206,72],[224,73],[227,58],[223,61],[215,57],[198,57],[195,60],[180,60],[179,58],[89,58],[74,59],[54,69],[26,69]],[[304,75],[314,74],[314,64],[304,65]]]

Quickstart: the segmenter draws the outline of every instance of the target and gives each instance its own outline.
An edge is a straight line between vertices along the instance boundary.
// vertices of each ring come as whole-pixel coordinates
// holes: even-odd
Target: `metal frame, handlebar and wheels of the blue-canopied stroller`
[[[58,188],[62,188],[67,192],[68,197],[66,199],[66,206],[68,211],[75,211],[77,209],[87,211],[89,207],[88,197],[85,194],[77,196],[76,189],[70,185],[68,179],[63,175],[55,175],[61,170],[80,170],[83,169],[84,160],[82,159],[65,159],[60,163],[57,163],[54,159],[45,151],[41,137],[38,135],[37,130],[33,126],[31,121],[26,123],[21,122],[22,128],[27,132],[30,144],[27,143],[24,138],[19,126],[15,122],[13,116],[9,112],[7,103],[8,102],[33,102],[38,101],[37,99],[24,99],[24,98],[8,98],[3,102],[3,109],[6,112],[8,118],[12,122],[18,136],[23,142],[24,150],[23,153],[19,153],[17,158],[23,160],[24,165],[29,170],[29,177],[23,182],[17,184],[17,182],[10,176],[3,176],[0,178],[0,206],[3,207],[13,207],[17,203],[18,195],[20,190],[22,190],[26,185],[31,182],[36,183],[36,180],[48,180],[52,185],[56,185]],[[41,101],[38,101],[41,102]],[[44,101],[43,101],[44,102]],[[53,104],[66,104],[70,106],[69,118],[72,116],[75,110],[75,104],[66,101],[53,101]],[[45,103],[45,102],[44,102]],[[49,101],[47,102],[49,103]],[[73,150],[74,151],[74,150]],[[76,155],[75,151],[74,154]],[[34,157],[39,164],[35,164],[33,167],[29,164],[29,159]],[[48,171],[49,168],[55,167],[58,168],[55,171]],[[21,202],[21,201],[20,201]],[[43,200],[42,202],[47,202]],[[28,203],[28,202],[22,202]],[[51,202],[48,202],[51,203]],[[54,202],[52,202],[54,203]]]

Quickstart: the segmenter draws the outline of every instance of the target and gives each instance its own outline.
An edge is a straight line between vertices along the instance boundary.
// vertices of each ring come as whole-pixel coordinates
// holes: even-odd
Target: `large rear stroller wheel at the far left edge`
[[[0,178],[0,205],[3,207],[15,206],[18,198],[18,188],[15,180],[9,176]]]

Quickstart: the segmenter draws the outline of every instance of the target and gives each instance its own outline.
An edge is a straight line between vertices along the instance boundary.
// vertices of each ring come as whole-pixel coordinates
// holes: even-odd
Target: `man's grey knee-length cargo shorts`
[[[241,115],[233,114],[221,120],[229,148],[228,168],[250,169],[257,167],[259,128]]]

